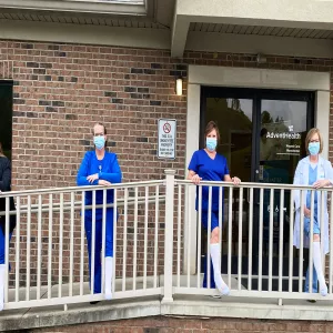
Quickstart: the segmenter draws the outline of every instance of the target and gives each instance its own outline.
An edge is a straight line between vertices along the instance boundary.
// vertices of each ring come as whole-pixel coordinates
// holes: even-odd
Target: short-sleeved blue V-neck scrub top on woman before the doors
[[[201,149],[193,153],[189,170],[194,171],[202,178],[203,181],[223,181],[224,175],[229,174],[226,159],[216,153],[215,159],[212,160],[205,150]],[[196,188],[195,209],[198,210],[199,188]],[[223,189],[222,189],[223,201]],[[202,210],[209,209],[209,186],[202,186]],[[219,211],[219,188],[212,188],[212,211]]]

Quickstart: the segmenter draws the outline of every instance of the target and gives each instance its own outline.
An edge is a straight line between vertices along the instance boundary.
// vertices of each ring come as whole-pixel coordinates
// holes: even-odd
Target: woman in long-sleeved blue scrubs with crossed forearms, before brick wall
[[[80,165],[77,183],[85,185],[111,185],[121,182],[121,170],[115,153],[105,150],[107,130],[103,124],[93,127],[94,150],[88,151]],[[103,203],[103,191],[95,192],[95,204]],[[113,190],[107,190],[107,203],[113,203]],[[92,192],[85,192],[85,205],[92,204]],[[102,250],[102,215],[103,210],[95,210],[95,248],[94,248],[94,293],[101,293],[101,250]],[[89,271],[91,278],[92,249],[92,210],[84,213],[84,229],[89,253]],[[112,269],[113,269],[113,208],[107,208],[105,221],[105,299],[112,299]],[[95,303],[95,302],[91,302]]]

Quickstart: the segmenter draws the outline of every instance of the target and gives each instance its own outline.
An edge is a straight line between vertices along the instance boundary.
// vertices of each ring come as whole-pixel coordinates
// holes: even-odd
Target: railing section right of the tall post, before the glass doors
[[[176,180],[175,193],[178,193],[176,225],[176,268],[173,282],[175,294],[210,294],[218,295],[216,289],[210,289],[212,276],[209,241],[204,246],[202,239],[210,240],[210,216],[208,211],[208,229],[202,228],[201,199],[203,188],[209,193],[209,208],[212,206],[212,189],[219,189],[219,226],[220,244],[222,249],[221,266],[222,276],[231,289],[232,296],[249,297],[274,297],[282,302],[283,299],[313,299],[323,300],[320,293],[313,293],[313,271],[309,274],[309,293],[304,292],[304,273],[307,262],[313,262],[313,224],[314,210],[311,209],[310,241],[304,243],[304,214],[300,214],[300,250],[293,245],[295,208],[294,196],[300,195],[300,206],[305,204],[305,193],[311,193],[311,206],[314,206],[315,190],[310,186],[275,183],[242,183],[234,186],[225,182],[201,182],[198,186],[199,208],[194,210],[194,185],[190,181]],[[168,191],[168,189],[167,189]],[[222,191],[224,200],[222,200]],[[324,243],[321,241],[321,255],[324,276],[329,287],[325,299],[333,300],[332,294],[332,235],[324,232],[325,202],[327,193],[332,194],[331,188],[320,189],[319,216],[321,221],[321,240],[326,240],[330,253],[324,255]],[[190,200],[189,200],[190,199]],[[185,205],[180,204],[185,202]],[[273,209],[271,209],[273,208]],[[333,203],[329,202],[329,224],[333,228]],[[184,216],[184,221],[182,221]],[[183,226],[184,223],[184,226]],[[184,230],[183,230],[184,228]],[[181,249],[181,233],[193,235],[184,241]],[[221,241],[222,240],[222,241]],[[309,246],[309,252],[303,246]],[[327,250],[327,249],[326,249]],[[182,256],[184,261],[182,261]],[[195,259],[194,265],[191,259]],[[203,270],[206,270],[208,287],[203,285]],[[320,290],[320,286],[317,287]]]

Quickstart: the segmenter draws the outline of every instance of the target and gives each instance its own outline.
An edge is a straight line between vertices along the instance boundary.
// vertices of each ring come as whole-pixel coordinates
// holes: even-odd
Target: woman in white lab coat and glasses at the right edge
[[[314,189],[330,186],[333,184],[333,170],[330,161],[320,157],[323,151],[323,140],[317,129],[311,129],[305,139],[305,147],[309,157],[301,160],[297,164],[294,184],[310,185]],[[311,211],[313,211],[313,265],[310,263],[310,268],[313,269],[313,284],[312,290],[317,292],[317,282],[320,284],[320,293],[323,296],[327,295],[327,286],[322,266],[322,253],[321,242],[324,242],[324,254],[329,253],[329,213],[327,213],[327,192],[315,191],[314,204],[311,206],[311,191],[303,191],[303,206],[301,206],[301,191],[294,191],[295,202],[295,228],[294,228],[294,245],[300,249],[300,222],[301,214],[304,214],[304,246],[309,248],[310,238],[310,218]],[[324,215],[321,216],[321,202],[323,198]],[[321,221],[323,219],[323,221]],[[323,228],[323,240],[321,240],[321,228]],[[309,268],[309,269],[310,269]],[[309,292],[309,269],[305,280],[305,292]]]

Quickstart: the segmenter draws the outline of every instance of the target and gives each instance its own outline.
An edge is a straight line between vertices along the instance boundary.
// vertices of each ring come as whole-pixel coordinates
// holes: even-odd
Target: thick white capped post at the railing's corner
[[[175,170],[165,170],[165,225],[164,225],[164,297],[163,303],[173,302],[173,211]]]

